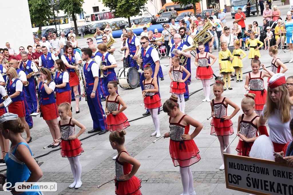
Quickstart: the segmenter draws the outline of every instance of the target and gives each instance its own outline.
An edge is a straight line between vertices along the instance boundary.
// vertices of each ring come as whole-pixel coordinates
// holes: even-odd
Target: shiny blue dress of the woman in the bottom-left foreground
[[[28,147],[30,150],[30,147],[28,144],[24,142],[20,142],[19,144],[25,145]],[[15,186],[16,182],[23,182],[27,181],[28,178],[30,177],[30,170],[28,167],[20,160],[18,160],[14,155],[17,149],[17,144],[13,152],[11,153],[10,149],[8,152],[8,155],[5,155],[5,162],[7,166],[7,172],[6,172],[6,181],[10,182],[12,184],[12,187]],[[32,151],[30,150],[30,154],[33,156]],[[38,188],[35,186],[35,188]],[[9,188],[8,188],[9,190]],[[41,191],[28,191],[28,192],[23,192],[21,195],[34,195],[34,194],[43,194]]]

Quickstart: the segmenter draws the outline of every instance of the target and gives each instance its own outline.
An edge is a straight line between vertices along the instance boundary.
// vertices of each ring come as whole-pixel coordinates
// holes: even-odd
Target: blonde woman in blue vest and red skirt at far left
[[[17,60],[11,60],[10,63],[17,63]],[[9,79],[7,84],[7,94],[11,97],[12,103],[9,104],[8,110],[10,113],[17,114],[21,119],[21,122],[25,126],[26,142],[30,143],[32,137],[30,137],[30,128],[28,123],[25,121],[25,107],[24,107],[24,94],[23,94],[23,83],[19,80],[18,73],[15,68],[9,67],[6,70],[7,77]]]

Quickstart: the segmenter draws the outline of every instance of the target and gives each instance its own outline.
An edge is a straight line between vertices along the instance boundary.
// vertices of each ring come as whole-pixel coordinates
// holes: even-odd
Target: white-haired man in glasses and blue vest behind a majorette
[[[174,34],[174,44],[172,45],[171,49],[170,49],[170,53],[169,53],[169,57],[170,57],[170,66],[169,66],[169,69],[171,68],[171,65],[172,65],[172,58],[174,56],[178,57],[179,54],[182,54],[183,56],[187,57],[187,63],[189,63],[189,66],[190,66],[190,57],[191,57],[191,54],[190,54],[190,51],[186,51],[186,52],[183,52],[181,50],[185,49],[187,46],[183,43],[181,43],[181,36],[180,34]],[[176,54],[172,54],[172,51],[173,49],[177,49],[178,51],[176,51]],[[186,63],[186,64],[187,64]],[[184,65],[184,68],[186,68],[185,64]],[[182,77],[185,78],[186,77],[186,73],[183,72],[182,73]],[[184,93],[184,101],[188,101],[189,99],[189,90],[188,90],[188,84],[187,84],[187,80],[185,81],[185,89],[186,89],[186,92]],[[183,101],[183,100],[181,100]]]

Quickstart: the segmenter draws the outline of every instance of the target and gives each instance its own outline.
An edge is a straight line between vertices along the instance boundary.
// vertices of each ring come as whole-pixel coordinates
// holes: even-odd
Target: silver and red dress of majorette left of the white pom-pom
[[[244,117],[244,114],[242,114],[242,117],[241,117],[239,133],[241,133],[248,139],[257,137],[258,136],[257,126],[253,124],[253,121],[255,118],[258,118],[259,116],[255,116],[251,121],[243,120],[243,117]],[[239,141],[236,147],[236,151],[238,151],[237,155],[249,157],[249,152],[251,150],[252,145],[253,145],[253,142]]]

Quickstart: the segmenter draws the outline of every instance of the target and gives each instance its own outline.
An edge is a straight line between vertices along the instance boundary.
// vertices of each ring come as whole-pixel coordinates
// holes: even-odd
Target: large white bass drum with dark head
[[[121,88],[134,89],[139,84],[140,76],[136,68],[120,68],[117,74],[117,81]]]

